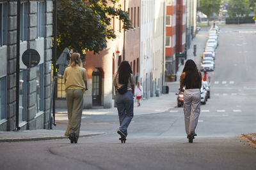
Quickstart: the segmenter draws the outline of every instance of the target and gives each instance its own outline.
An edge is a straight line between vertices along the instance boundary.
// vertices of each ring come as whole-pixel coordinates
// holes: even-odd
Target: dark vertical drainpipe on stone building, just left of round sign
[[[20,91],[20,0],[17,0],[17,50],[16,50],[16,128],[19,127],[19,91]]]

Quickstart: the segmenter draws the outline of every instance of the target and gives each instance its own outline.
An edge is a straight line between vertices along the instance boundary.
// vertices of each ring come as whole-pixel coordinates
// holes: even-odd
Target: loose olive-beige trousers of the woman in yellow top
[[[81,118],[83,113],[83,89],[67,90],[68,127],[65,136],[69,136],[74,131],[79,136]]]

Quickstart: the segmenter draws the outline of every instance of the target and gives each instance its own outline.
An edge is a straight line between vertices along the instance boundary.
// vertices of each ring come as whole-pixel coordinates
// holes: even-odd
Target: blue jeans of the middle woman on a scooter
[[[125,94],[116,94],[116,107],[120,122],[120,131],[127,136],[127,128],[133,117],[133,96],[132,91],[127,91]]]

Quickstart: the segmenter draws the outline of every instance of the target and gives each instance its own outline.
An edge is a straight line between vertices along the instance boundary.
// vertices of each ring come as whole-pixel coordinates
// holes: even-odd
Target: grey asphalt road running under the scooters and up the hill
[[[165,113],[136,115],[125,144],[116,134],[117,115],[88,115],[81,129],[106,134],[72,145],[67,139],[1,143],[1,169],[255,169],[256,149],[239,136],[256,127],[256,33],[250,32],[256,29],[220,29],[211,99],[201,107],[194,143],[186,139],[182,108],[174,105]],[[65,127],[64,121],[56,128]]]

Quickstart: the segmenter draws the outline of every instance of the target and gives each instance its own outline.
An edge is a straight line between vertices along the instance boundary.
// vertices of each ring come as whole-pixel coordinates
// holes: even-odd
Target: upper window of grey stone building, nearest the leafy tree
[[[44,37],[44,18],[45,13],[45,3],[44,2],[38,2],[37,3],[37,37]]]

